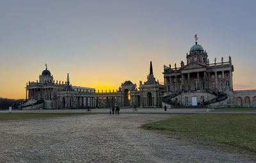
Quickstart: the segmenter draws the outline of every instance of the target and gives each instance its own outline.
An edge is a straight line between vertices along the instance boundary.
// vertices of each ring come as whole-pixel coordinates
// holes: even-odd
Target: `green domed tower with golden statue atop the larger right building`
[[[201,45],[197,44],[197,40],[198,37],[195,35],[195,45],[190,48],[189,54],[187,53],[187,65],[193,62],[207,65],[207,52]]]

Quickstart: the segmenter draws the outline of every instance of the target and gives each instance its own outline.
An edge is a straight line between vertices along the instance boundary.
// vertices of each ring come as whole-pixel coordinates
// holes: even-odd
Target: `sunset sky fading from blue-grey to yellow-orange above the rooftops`
[[[0,0],[0,97],[26,98],[45,69],[73,86],[118,89],[147,81],[150,61],[186,63],[195,44],[234,65],[234,89],[256,89],[256,1]]]

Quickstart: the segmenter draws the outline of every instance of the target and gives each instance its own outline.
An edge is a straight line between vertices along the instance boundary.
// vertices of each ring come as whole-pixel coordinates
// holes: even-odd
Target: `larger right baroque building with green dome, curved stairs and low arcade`
[[[164,65],[164,105],[169,107],[252,107],[256,90],[234,91],[231,57],[209,63],[208,54],[197,42],[186,54],[186,65]],[[247,100],[246,100],[247,99]]]

